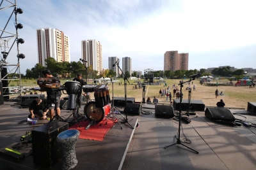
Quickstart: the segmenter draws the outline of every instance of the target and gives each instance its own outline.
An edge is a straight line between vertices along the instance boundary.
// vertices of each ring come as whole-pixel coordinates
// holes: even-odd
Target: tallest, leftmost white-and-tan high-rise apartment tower
[[[63,31],[45,28],[36,29],[38,63],[45,66],[45,59],[54,58],[57,62],[70,62],[69,38]]]

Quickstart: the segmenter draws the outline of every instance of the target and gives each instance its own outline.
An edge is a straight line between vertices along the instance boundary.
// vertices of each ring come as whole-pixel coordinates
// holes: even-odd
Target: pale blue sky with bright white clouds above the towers
[[[104,69],[108,57],[121,59],[120,66],[122,57],[131,57],[132,71],[163,70],[164,53],[171,50],[189,53],[188,69],[256,68],[255,0],[17,0],[17,6],[23,10],[24,74],[38,62],[36,29],[47,27],[69,36],[71,61],[81,58],[82,40],[100,41]],[[12,10],[0,11],[1,30]],[[6,31],[15,32],[14,22],[12,17]],[[6,61],[17,63],[16,55],[13,46]]]

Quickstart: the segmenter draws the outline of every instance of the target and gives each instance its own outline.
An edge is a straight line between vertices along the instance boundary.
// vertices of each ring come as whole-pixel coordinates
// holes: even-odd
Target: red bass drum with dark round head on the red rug
[[[97,108],[95,106],[95,101],[90,101],[84,107],[84,115],[89,120],[94,120],[96,123],[99,123],[101,122],[101,120],[104,118],[105,115],[108,115],[110,110],[111,110],[110,104],[107,104],[103,108]]]

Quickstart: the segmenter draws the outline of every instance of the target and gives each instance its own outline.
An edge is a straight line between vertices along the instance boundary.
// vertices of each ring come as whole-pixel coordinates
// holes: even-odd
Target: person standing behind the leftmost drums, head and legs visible
[[[54,76],[52,76],[52,73],[49,69],[44,69],[42,71],[42,73],[44,74],[45,78],[55,78],[56,80],[59,80],[59,78],[56,78]],[[54,106],[52,106],[52,104],[54,104],[54,100],[55,100],[55,92],[52,90],[47,90],[47,108],[50,110],[50,118],[52,119],[54,117]],[[61,92],[58,91],[56,94],[56,114],[60,116],[60,96],[61,96]]]

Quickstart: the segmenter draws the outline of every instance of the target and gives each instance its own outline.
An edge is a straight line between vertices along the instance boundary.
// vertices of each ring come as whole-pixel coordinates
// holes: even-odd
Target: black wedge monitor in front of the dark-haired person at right
[[[234,122],[236,120],[233,113],[227,108],[206,108],[205,117],[210,120],[222,120],[227,122]]]

